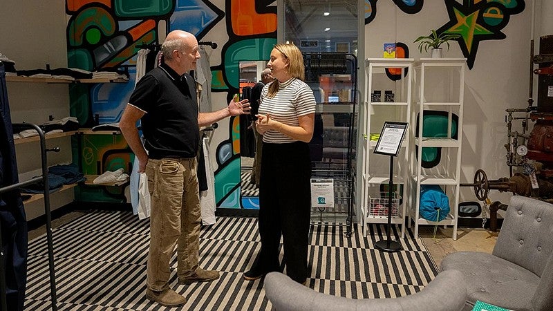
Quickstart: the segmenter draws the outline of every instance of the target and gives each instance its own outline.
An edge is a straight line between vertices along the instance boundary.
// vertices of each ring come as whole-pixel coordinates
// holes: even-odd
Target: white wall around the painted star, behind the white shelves
[[[472,182],[477,169],[484,169],[489,179],[509,177],[506,164],[507,142],[505,109],[527,106],[532,1],[526,1],[521,14],[512,15],[503,28],[503,40],[480,41],[471,70],[465,68],[465,106],[462,137],[461,182]],[[547,6],[553,7],[553,1]],[[549,15],[551,16],[551,15]],[[365,57],[382,57],[382,44],[401,41],[409,46],[410,57],[429,57],[413,43],[449,21],[442,0],[424,1],[415,15],[408,15],[393,1],[378,1],[377,16],[365,26]],[[456,42],[444,50],[445,57],[464,57]],[[510,194],[492,190],[489,198],[508,202]],[[477,200],[469,187],[461,188],[460,201]]]

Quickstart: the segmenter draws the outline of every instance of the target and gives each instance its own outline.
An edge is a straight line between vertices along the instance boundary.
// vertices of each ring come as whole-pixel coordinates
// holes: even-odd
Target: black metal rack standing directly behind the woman
[[[355,106],[357,104],[357,57],[351,53],[329,52],[329,53],[303,53],[303,62],[306,67],[306,82],[312,86],[312,84],[319,84],[319,77],[321,75],[350,75],[348,82],[340,82],[342,85],[350,89],[350,100],[348,102],[338,103],[324,103],[325,108],[330,108],[330,104],[349,104],[351,109],[344,111],[343,113],[349,114],[348,129],[347,129],[347,141],[346,141],[346,164],[341,169],[335,169],[332,167],[333,163],[318,162],[314,163],[313,177],[315,178],[333,178],[337,182],[345,182],[347,187],[346,196],[336,197],[341,201],[347,200],[347,215],[346,215],[346,236],[352,235],[353,225],[353,183],[355,180],[353,169],[353,144],[355,143]],[[334,82],[332,82],[334,83]],[[312,86],[314,88],[314,86]],[[318,103],[323,104],[323,103]],[[339,107],[340,105],[332,105],[333,107]],[[342,105],[345,106],[345,105]],[[324,113],[323,109],[323,113]],[[340,113],[338,113],[340,114]],[[328,165],[327,168],[324,168]],[[336,214],[336,211],[335,211]]]

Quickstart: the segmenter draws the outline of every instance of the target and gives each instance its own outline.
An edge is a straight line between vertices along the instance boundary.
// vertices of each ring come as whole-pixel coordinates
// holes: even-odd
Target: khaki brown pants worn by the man
[[[198,268],[200,196],[196,158],[149,159],[146,173],[151,195],[147,286],[167,289],[169,264],[177,245],[177,273],[189,276]]]

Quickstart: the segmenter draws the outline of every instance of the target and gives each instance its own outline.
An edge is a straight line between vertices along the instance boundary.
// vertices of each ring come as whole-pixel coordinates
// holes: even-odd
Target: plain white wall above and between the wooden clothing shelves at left
[[[3,0],[0,10],[0,53],[15,61],[17,70],[67,67],[66,14],[64,0]],[[69,115],[67,84],[8,82],[8,99],[13,123],[48,121],[48,115]],[[48,164],[71,162],[68,138],[48,140]],[[40,147],[37,142],[16,145],[20,180],[39,175]],[[50,196],[53,209],[73,201],[73,191]],[[44,214],[44,201],[25,206],[27,219]]]

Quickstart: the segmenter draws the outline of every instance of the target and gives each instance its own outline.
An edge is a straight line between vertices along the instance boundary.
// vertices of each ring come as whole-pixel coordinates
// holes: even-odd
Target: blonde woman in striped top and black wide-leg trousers
[[[301,51],[277,44],[268,62],[274,81],[261,92],[256,130],[263,135],[259,185],[261,251],[248,281],[280,270],[279,243],[283,237],[286,274],[298,283],[308,277],[311,162],[308,142],[313,135],[315,96],[303,82]]]

